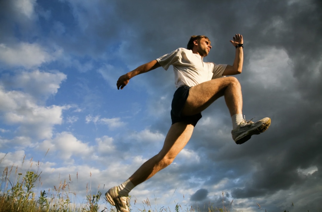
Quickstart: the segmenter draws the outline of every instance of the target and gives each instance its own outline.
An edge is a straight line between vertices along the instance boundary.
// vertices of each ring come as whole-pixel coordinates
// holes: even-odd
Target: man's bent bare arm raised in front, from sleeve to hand
[[[241,34],[236,34],[232,39],[233,40],[230,40],[230,42],[234,47],[236,47],[238,44],[243,44],[243,39]],[[237,47],[234,63],[232,66],[227,65],[225,71],[223,72],[223,76],[236,75],[236,74],[242,73],[243,60],[244,60],[243,49],[242,47]]]

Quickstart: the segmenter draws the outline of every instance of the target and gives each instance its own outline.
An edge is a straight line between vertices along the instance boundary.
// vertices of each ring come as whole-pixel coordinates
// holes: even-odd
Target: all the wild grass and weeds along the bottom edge
[[[0,160],[0,164],[3,159]],[[24,164],[24,159],[22,165]],[[29,163],[31,170],[33,166],[32,159]],[[36,187],[42,186],[41,172],[39,172],[41,164],[42,162],[40,163],[38,161],[35,172],[26,171],[25,173],[19,173],[18,166],[12,165],[11,167],[5,167],[0,182],[0,212],[117,212],[115,207],[106,201],[105,197],[101,198],[102,193],[99,190],[93,194],[88,184],[86,185],[86,199],[81,203],[74,202],[77,199],[77,194],[71,190],[70,185],[72,180],[70,175],[67,181],[66,179],[60,181],[59,185],[53,186],[52,189],[40,190],[40,192],[39,190],[35,191]],[[76,176],[78,179],[78,174]],[[130,208],[131,211],[140,212],[230,212],[233,201],[226,207],[224,205],[224,193],[222,194],[222,208],[213,207],[213,204],[210,203],[208,206],[204,205],[202,208],[191,206],[190,208],[187,207],[184,209],[179,203],[173,209],[169,207],[158,208],[156,206],[153,208],[148,198],[142,201],[142,208],[135,206],[137,199],[134,201],[134,207],[132,208],[130,206]],[[294,208],[293,203],[292,205]],[[263,210],[259,204],[258,206],[258,209]]]

